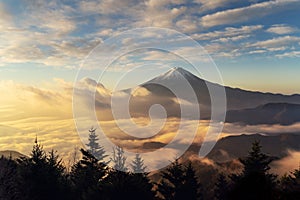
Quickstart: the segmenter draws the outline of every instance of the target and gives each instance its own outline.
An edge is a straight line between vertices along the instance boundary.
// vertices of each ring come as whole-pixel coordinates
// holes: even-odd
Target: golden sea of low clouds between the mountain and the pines
[[[96,95],[97,102],[105,104],[106,101],[109,101],[109,92],[96,81],[85,78],[80,81],[80,86],[82,86],[81,90],[79,90],[82,104],[77,106],[80,106],[81,109],[86,110],[91,104],[95,103],[91,101],[92,91],[95,89],[99,93]],[[68,159],[70,156],[69,152],[73,152],[75,146],[82,146],[81,140],[84,144],[87,143],[87,130],[97,124],[93,124],[90,119],[83,120],[84,126],[78,127],[80,129],[79,133],[82,134],[82,137],[79,138],[72,115],[72,90],[72,83],[62,79],[55,79],[51,88],[38,88],[13,81],[0,82],[0,92],[5,94],[0,100],[0,105],[5,105],[0,107],[0,131],[2,130],[0,142],[3,144],[2,149],[14,149],[28,154],[35,135],[38,134],[39,140],[47,150],[54,148],[64,158]],[[149,99],[148,92],[142,90],[138,97],[147,97]],[[119,98],[122,98],[122,95]],[[100,112],[102,115],[108,115],[102,112],[107,110],[103,109],[105,107],[99,108],[102,108]],[[181,121],[176,117],[169,117],[162,124],[161,119],[150,119],[146,116],[129,120],[119,119],[118,124],[121,127],[117,126],[114,120],[101,120],[99,117],[98,120],[100,120],[101,130],[114,144],[122,145],[133,152],[148,152],[153,150],[153,148],[157,150],[164,144],[170,143],[176,137],[173,145],[168,147],[169,156],[174,158],[176,155],[179,155],[184,146],[192,142],[199,145],[204,140],[204,137],[208,141],[214,140],[213,135],[207,135],[209,121],[204,120]],[[179,127],[182,128],[182,132],[178,132]],[[127,130],[131,135],[139,135],[140,137],[136,138],[125,134],[126,132],[124,133],[122,130]],[[153,134],[153,131],[156,134]],[[193,131],[196,131],[195,138]],[[242,133],[272,135],[299,131],[300,123],[290,126],[242,126],[226,123],[222,136]],[[157,165],[156,161],[158,162],[158,160],[153,157],[147,157],[148,164],[155,161],[154,164]]]

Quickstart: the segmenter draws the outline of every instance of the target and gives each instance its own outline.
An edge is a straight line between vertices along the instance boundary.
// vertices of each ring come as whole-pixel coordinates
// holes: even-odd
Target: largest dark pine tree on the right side
[[[244,169],[242,174],[231,176],[230,199],[274,199],[276,176],[268,172],[272,159],[261,152],[258,141],[252,144],[249,155],[240,161]]]

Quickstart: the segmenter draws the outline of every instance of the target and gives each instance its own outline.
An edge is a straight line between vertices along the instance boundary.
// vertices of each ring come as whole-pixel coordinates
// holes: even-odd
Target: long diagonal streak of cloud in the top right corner
[[[298,0],[274,0],[241,8],[228,9],[203,16],[200,20],[200,25],[203,27],[213,27],[241,23],[276,12],[282,12],[283,10],[295,9],[299,3]]]

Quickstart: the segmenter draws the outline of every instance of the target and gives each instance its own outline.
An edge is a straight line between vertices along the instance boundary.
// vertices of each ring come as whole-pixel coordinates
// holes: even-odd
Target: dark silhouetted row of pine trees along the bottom
[[[95,129],[90,130],[87,146],[88,150],[80,150],[82,158],[69,171],[56,152],[46,153],[37,140],[29,157],[1,157],[0,199],[204,199],[191,163],[183,165],[176,159],[160,172],[159,181],[152,182],[139,154],[130,165],[133,172],[128,170],[120,147],[114,148],[110,158],[114,168],[108,167]],[[214,199],[300,199],[300,170],[278,179],[269,172],[272,160],[261,152],[259,142],[254,142],[249,155],[240,161],[244,165],[241,174],[218,176]]]

